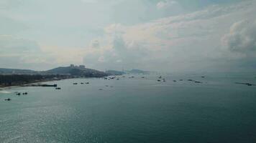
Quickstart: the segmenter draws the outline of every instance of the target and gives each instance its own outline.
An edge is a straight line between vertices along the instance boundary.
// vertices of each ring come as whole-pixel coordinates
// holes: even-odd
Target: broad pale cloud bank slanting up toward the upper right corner
[[[225,68],[220,59],[228,60],[234,55],[221,49],[221,36],[235,21],[244,19],[244,15],[253,18],[254,6],[250,2],[209,6],[145,24],[111,24],[105,28],[105,44],[101,44],[108,48],[91,53],[91,59],[86,61],[92,61],[91,66],[113,69],[122,66],[160,71]],[[104,62],[94,62],[93,54],[96,61]]]

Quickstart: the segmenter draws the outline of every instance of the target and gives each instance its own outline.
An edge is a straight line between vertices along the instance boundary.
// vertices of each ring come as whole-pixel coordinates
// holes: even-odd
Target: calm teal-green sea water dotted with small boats
[[[130,76],[0,90],[0,142],[256,142],[255,74]]]

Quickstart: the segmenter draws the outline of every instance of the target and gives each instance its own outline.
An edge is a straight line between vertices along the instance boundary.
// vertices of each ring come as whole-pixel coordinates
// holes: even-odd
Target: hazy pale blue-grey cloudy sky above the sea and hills
[[[0,67],[256,71],[256,0],[0,0]]]

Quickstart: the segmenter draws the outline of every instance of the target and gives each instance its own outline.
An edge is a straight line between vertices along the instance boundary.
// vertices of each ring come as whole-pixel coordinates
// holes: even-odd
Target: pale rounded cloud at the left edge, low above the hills
[[[0,65],[3,67],[41,69],[53,64],[53,60],[36,41],[0,35]]]

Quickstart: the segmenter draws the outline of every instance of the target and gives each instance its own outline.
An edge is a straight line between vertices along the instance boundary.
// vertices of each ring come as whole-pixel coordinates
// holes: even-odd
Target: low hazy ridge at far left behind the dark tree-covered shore
[[[30,69],[6,69],[0,68],[0,74],[40,74],[40,71]]]

